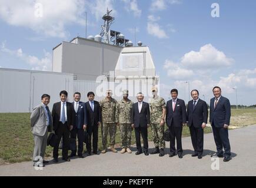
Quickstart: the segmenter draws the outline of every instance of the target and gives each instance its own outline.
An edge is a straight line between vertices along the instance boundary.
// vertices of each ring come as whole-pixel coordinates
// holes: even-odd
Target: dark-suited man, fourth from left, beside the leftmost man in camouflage
[[[99,108],[99,102],[94,100],[94,96],[94,92],[88,92],[88,101],[85,103],[88,119],[87,133],[89,135],[87,155],[91,155],[92,149],[94,154],[98,154],[98,127],[101,126],[101,109]]]

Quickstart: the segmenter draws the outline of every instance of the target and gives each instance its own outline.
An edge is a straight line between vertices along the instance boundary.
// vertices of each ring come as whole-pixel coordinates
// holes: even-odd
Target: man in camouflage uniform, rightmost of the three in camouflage
[[[153,86],[153,98],[149,99],[149,106],[151,109],[151,130],[155,149],[150,154],[159,153],[159,156],[164,156],[164,118],[165,118],[165,100],[157,95],[158,89]],[[160,148],[160,150],[159,150]]]

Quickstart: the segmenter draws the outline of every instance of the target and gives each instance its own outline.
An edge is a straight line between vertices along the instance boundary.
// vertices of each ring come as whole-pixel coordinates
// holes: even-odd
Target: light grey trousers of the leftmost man
[[[33,161],[37,162],[38,160],[43,160],[45,156],[45,149],[47,145],[47,136],[48,136],[48,127],[46,129],[46,132],[44,136],[34,136],[34,153],[33,153]]]

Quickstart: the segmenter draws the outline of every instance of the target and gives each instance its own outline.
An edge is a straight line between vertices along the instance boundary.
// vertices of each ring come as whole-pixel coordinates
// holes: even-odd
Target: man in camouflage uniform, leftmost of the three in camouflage
[[[115,133],[117,132],[117,124],[115,123],[115,106],[117,105],[117,100],[112,98],[112,90],[107,90],[107,96],[99,102],[102,110],[102,146],[103,150],[101,153],[107,152],[107,138],[108,132],[110,136],[110,150],[117,153],[115,150]]]

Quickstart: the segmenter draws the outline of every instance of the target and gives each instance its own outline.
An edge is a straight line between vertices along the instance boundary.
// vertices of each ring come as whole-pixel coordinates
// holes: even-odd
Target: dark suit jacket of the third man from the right
[[[186,123],[186,106],[182,99],[176,99],[175,110],[172,110],[172,99],[167,101],[166,120],[167,126],[171,126],[172,122],[175,127],[181,127],[182,123]]]

